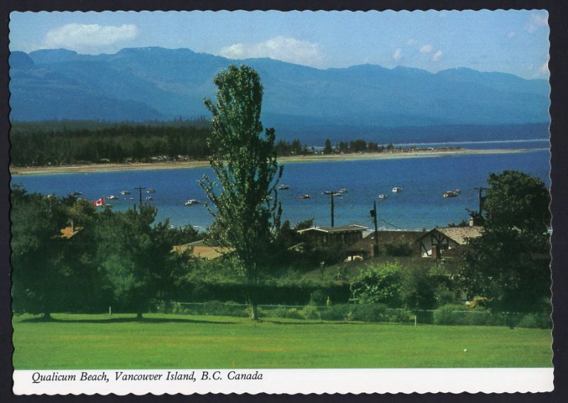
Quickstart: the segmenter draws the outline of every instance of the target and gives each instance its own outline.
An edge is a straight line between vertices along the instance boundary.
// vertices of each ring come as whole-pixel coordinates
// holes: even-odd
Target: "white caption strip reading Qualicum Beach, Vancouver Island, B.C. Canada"
[[[526,393],[551,392],[554,368],[15,370],[13,382],[16,395]]]

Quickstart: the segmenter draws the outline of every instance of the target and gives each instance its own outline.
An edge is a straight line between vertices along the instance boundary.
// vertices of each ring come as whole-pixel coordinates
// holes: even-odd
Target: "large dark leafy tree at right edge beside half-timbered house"
[[[550,293],[550,195],[519,171],[491,173],[487,182],[484,232],[466,260],[470,294],[500,310],[538,310]]]

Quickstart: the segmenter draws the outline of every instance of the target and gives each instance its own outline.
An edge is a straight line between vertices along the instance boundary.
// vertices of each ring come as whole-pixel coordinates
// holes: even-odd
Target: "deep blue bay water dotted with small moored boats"
[[[495,147],[493,144],[493,148]],[[515,147],[521,148],[521,147]],[[522,147],[524,148],[524,147]],[[528,147],[527,147],[528,148]],[[293,224],[314,218],[316,225],[329,225],[329,195],[324,190],[347,188],[349,193],[335,200],[335,225],[354,222],[372,225],[368,213],[377,201],[379,226],[386,228],[422,229],[468,217],[466,208],[478,207],[477,190],[484,186],[490,172],[519,170],[542,178],[550,186],[550,152],[534,150],[515,154],[478,156],[447,156],[437,158],[397,158],[391,160],[332,161],[285,164],[280,183],[290,186],[280,190],[283,216]],[[185,200],[204,200],[197,179],[209,168],[165,171],[133,171],[114,173],[65,173],[36,176],[13,176],[12,183],[21,183],[29,192],[67,195],[80,190],[80,197],[95,200],[102,195],[120,195],[130,190],[135,200],[121,197],[111,203],[116,210],[131,208],[138,203],[137,186],[154,188],[153,203],[158,207],[158,220],[170,218],[173,225],[205,227],[212,217],[204,206],[184,207]],[[403,188],[392,193],[393,187]],[[457,198],[443,198],[446,190],[461,189]],[[299,196],[309,193],[310,200]],[[378,200],[380,193],[388,194]],[[143,195],[146,198],[146,194]]]

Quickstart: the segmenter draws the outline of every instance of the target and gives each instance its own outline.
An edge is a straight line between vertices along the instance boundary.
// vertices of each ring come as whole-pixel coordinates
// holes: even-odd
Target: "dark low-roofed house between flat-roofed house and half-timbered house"
[[[378,231],[378,251],[391,256],[407,256],[417,254],[419,248],[415,244],[417,237],[424,235],[422,231]],[[375,257],[375,233],[371,232],[362,240],[345,248],[346,258],[354,260],[356,257],[371,259]]]

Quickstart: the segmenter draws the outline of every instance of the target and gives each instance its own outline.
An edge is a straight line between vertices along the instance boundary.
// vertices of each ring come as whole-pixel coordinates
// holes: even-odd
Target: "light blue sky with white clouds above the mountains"
[[[471,68],[545,78],[548,14],[498,11],[13,12],[10,50],[189,48],[314,68],[373,64],[438,72]]]

